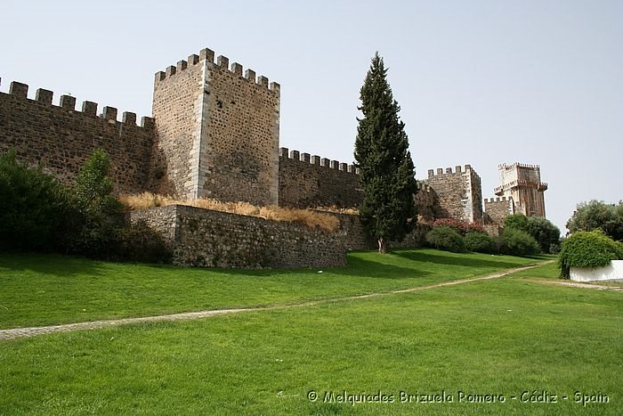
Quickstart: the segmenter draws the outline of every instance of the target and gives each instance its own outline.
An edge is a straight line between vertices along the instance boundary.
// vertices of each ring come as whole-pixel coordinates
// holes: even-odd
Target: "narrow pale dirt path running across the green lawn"
[[[538,265],[545,265],[547,263],[548,262],[539,263]],[[239,308],[239,309],[219,309],[219,310],[213,310],[213,311],[188,312],[188,313],[183,313],[183,314],[166,314],[166,315],[158,315],[158,316],[144,316],[141,318],[125,318],[125,319],[113,319],[113,320],[106,320],[106,321],[77,322],[77,323],[67,323],[63,325],[52,325],[52,326],[44,326],[44,327],[15,328],[12,330],[0,330],[0,339],[17,339],[17,338],[25,338],[25,337],[34,337],[36,335],[50,334],[54,332],[70,332],[74,330],[97,330],[101,328],[109,328],[109,327],[113,327],[117,325],[127,325],[127,324],[132,324],[132,323],[182,321],[182,320],[189,320],[189,319],[207,318],[207,317],[219,315],[219,314],[239,314],[242,312],[269,311],[269,310],[277,310],[277,309],[287,309],[287,308],[292,308],[292,307],[315,306],[315,305],[320,305],[320,304],[329,303],[329,302],[341,302],[344,300],[376,298],[376,297],[387,296],[387,295],[392,295],[396,293],[408,293],[408,292],[415,292],[418,290],[429,290],[429,289],[441,288],[444,286],[454,286],[457,284],[470,283],[472,281],[485,281],[489,279],[497,279],[499,277],[507,276],[508,274],[511,274],[511,273],[520,272],[522,270],[528,270],[538,265],[526,265],[522,267],[516,267],[514,269],[505,270],[503,272],[491,273],[491,274],[487,274],[481,277],[474,277],[472,279],[445,281],[443,283],[437,283],[437,284],[433,284],[429,286],[422,286],[418,288],[392,290],[390,292],[370,293],[368,295],[349,296],[349,297],[344,297],[344,298],[331,298],[331,299],[317,300],[317,301],[312,301],[312,302],[304,302],[304,303],[295,304],[295,305],[249,307],[249,308]],[[586,285],[586,286],[593,287],[595,285]]]

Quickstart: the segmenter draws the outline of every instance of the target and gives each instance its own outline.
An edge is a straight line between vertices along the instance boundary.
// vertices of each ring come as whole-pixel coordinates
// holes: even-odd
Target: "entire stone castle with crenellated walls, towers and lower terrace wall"
[[[9,94],[0,93],[0,151],[14,148],[20,159],[43,164],[68,184],[93,150],[102,148],[109,152],[119,193],[150,190],[296,208],[351,208],[363,200],[352,165],[279,150],[279,84],[256,77],[252,69],[243,75],[242,66],[230,65],[224,56],[214,63],[210,49],[156,74],[154,118],[142,118],[142,126],[130,112],[117,121],[112,107],[98,115],[95,102],[84,102],[78,111],[68,95],[59,105],[44,89],[37,90],[35,100],[27,96],[28,86],[20,83],[12,83]],[[546,184],[540,183],[538,167],[526,167],[506,172],[499,192],[522,185],[522,200],[536,201],[532,205],[542,206],[544,214]],[[425,222],[453,217],[489,224],[503,221],[520,201],[514,198],[514,207],[485,201],[485,215],[481,197],[481,178],[466,165],[436,174],[429,170],[415,200]],[[133,214],[141,216],[166,235],[180,265],[341,265],[344,249],[376,248],[358,216],[338,215],[340,228],[334,233],[182,206]],[[405,241],[391,245],[422,245],[429,229],[417,224]]]

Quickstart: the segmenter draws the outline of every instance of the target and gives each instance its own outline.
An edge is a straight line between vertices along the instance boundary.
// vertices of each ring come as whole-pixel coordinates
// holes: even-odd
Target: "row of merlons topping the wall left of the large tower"
[[[40,104],[60,108],[63,110],[69,110],[72,112],[83,113],[86,116],[92,117],[100,117],[109,123],[121,123],[126,126],[136,126],[136,113],[124,111],[121,121],[117,120],[117,109],[115,107],[105,106],[101,110],[100,115],[97,114],[98,103],[85,101],[82,102],[82,110],[76,110],[76,98],[71,95],[63,94],[59,100],[58,105],[53,104],[53,95],[54,93],[50,90],[46,90],[44,88],[38,88],[36,90],[35,99],[28,98],[28,85],[22,84],[17,81],[12,81],[11,86],[9,87],[9,95],[12,95],[20,100],[28,100],[28,102],[38,102]],[[4,94],[0,92],[0,94]],[[143,128],[153,128],[154,119],[150,117],[142,117],[141,118],[141,126]]]

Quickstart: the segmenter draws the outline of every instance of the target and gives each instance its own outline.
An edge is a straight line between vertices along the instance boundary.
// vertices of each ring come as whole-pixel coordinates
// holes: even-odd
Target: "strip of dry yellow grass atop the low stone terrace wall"
[[[334,232],[339,219],[330,214],[321,214],[311,209],[256,207],[248,202],[221,202],[219,200],[176,200],[166,195],[142,192],[133,195],[121,195],[119,200],[129,210],[166,207],[167,205],[187,205],[190,207],[212,209],[213,211],[229,212],[241,216],[258,216],[272,221],[304,224],[310,228],[319,227]]]

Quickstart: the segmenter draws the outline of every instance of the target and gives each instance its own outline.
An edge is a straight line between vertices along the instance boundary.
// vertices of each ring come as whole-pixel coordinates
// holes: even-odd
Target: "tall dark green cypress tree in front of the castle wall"
[[[361,87],[355,160],[360,168],[364,200],[361,223],[387,252],[387,241],[401,241],[417,221],[413,196],[417,192],[409,138],[398,116],[387,69],[378,52]]]

